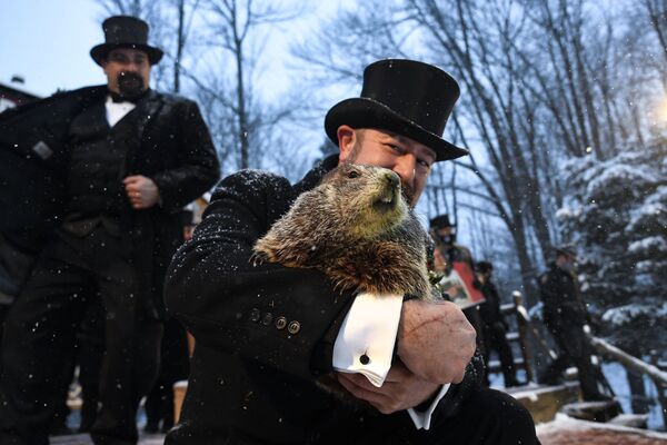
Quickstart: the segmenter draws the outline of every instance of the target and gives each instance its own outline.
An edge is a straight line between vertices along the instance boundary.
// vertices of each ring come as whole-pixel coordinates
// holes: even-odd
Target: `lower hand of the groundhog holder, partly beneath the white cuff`
[[[400,362],[391,366],[379,388],[362,374],[336,373],[336,376],[355,397],[368,402],[382,414],[412,408],[440,389],[440,385],[416,376]]]

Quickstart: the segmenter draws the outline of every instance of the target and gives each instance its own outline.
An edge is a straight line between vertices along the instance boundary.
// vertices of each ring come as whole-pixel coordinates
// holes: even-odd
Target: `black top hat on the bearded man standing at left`
[[[116,48],[132,48],[148,55],[150,65],[162,58],[162,50],[148,44],[148,23],[136,17],[113,16],[102,22],[104,43],[92,47],[90,57],[102,66],[107,53]]]

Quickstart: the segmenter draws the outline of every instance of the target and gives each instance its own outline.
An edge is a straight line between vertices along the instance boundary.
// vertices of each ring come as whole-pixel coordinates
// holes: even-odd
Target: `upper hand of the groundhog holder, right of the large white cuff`
[[[475,329],[449,301],[404,303],[398,356],[417,376],[436,384],[460,383],[475,354]]]

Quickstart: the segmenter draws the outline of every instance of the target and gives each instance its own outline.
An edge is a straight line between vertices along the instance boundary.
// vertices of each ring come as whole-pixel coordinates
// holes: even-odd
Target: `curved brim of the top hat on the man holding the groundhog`
[[[446,141],[418,123],[406,119],[386,105],[368,98],[351,98],[336,103],[325,118],[325,130],[338,146],[338,127],[378,128],[394,131],[417,142],[424,144],[436,152],[436,161],[460,158],[468,150]]]

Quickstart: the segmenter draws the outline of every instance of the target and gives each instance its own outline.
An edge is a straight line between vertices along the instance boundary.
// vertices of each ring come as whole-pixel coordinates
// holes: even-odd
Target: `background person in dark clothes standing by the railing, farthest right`
[[[575,246],[566,244],[555,249],[556,259],[539,281],[545,325],[558,345],[559,355],[540,375],[544,383],[557,383],[563,372],[574,363],[585,400],[604,400],[597,373],[590,362],[593,346],[584,332],[588,310],[577,283]]]

